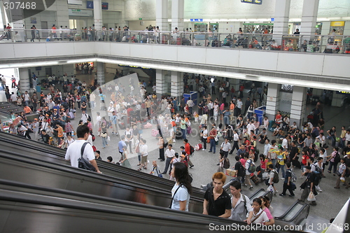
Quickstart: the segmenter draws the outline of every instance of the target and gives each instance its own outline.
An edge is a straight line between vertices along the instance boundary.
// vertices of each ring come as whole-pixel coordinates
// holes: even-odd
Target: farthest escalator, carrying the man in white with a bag
[[[0,132],[0,151],[3,151],[4,153],[7,151],[16,151],[21,155],[27,155],[27,153],[30,153],[30,157],[38,161],[70,165],[70,162],[64,160],[66,150],[3,132]],[[139,183],[142,180],[145,184],[153,185],[165,190],[171,190],[174,186],[174,181],[151,176],[134,169],[117,166],[116,164],[111,164],[102,160],[97,160],[97,164],[103,174],[125,179],[126,181]],[[204,197],[204,191],[193,187],[192,196],[202,199]]]

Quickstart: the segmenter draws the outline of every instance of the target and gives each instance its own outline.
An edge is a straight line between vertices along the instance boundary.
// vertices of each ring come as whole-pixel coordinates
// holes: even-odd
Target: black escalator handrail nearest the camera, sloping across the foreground
[[[6,182],[5,180],[0,180],[0,183],[3,185],[10,185],[10,182]],[[21,185],[18,183],[12,183],[12,185]],[[14,187],[20,187],[20,186],[14,186]],[[23,184],[22,188],[29,188],[33,190],[41,190],[41,187],[37,185],[25,185]],[[1,190],[1,188],[0,188]],[[57,193],[56,188],[46,188],[44,190],[45,192],[53,192]],[[73,197],[76,197],[76,192],[73,191],[66,191],[64,195],[71,195]],[[78,195],[82,195],[82,193],[78,193]],[[41,204],[41,205],[47,205],[47,206],[59,206],[59,207],[64,207],[64,208],[70,208],[70,209],[81,209],[85,211],[99,211],[99,212],[104,212],[104,213],[116,213],[116,214],[123,214],[126,216],[139,216],[141,218],[155,218],[157,220],[174,220],[174,216],[172,216],[170,213],[173,214],[183,214],[183,218],[181,218],[181,223],[188,223],[188,224],[196,224],[198,225],[199,223],[201,225],[209,225],[210,223],[215,223],[216,225],[221,224],[232,224],[232,223],[237,223],[241,224],[242,222],[231,220],[228,218],[219,218],[216,216],[206,216],[200,213],[193,213],[193,212],[188,212],[188,211],[176,211],[168,208],[162,208],[160,206],[148,206],[146,204],[139,204],[135,202],[128,202],[125,200],[118,200],[118,199],[110,199],[108,197],[99,197],[97,195],[87,195],[85,196],[88,199],[91,199],[91,202],[85,201],[80,201],[78,199],[68,199],[66,197],[60,198],[60,197],[55,197],[55,196],[48,196],[44,194],[36,194],[36,193],[28,193],[28,192],[21,192],[21,191],[14,191],[14,190],[3,190],[3,192],[0,192],[0,199],[10,201],[10,202],[22,202],[22,203],[29,203],[29,204]],[[113,202],[116,204],[127,204],[128,206],[134,206],[137,208],[147,208],[150,209],[150,212],[152,214],[143,214],[139,211],[133,211],[132,208],[130,208],[130,212],[128,213],[125,210],[118,210],[116,206],[110,206],[106,204],[96,204],[93,201],[100,200],[103,202]],[[151,209],[155,211],[161,211],[165,212],[164,213],[157,213],[155,211],[151,211]],[[172,212],[168,212],[172,211]],[[191,220],[191,218],[186,218],[186,217],[193,217],[193,218],[201,218],[201,220]],[[176,218],[176,221],[179,221],[179,219]],[[267,232],[267,231],[262,231],[260,232]],[[269,232],[276,232],[276,231],[269,231]],[[289,230],[288,232],[298,232],[294,230]]]

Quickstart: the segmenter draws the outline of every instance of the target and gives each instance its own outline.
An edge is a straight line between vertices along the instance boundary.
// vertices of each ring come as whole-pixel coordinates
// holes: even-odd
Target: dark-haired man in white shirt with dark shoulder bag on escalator
[[[90,129],[87,125],[79,125],[76,129],[78,139],[71,143],[66,150],[65,159],[71,161],[72,167],[78,167],[78,159],[81,157],[81,148],[90,135]],[[90,162],[90,164],[96,169],[97,173],[102,173],[97,167],[97,162],[94,160],[94,150],[90,143],[87,143],[83,150],[83,158]]]

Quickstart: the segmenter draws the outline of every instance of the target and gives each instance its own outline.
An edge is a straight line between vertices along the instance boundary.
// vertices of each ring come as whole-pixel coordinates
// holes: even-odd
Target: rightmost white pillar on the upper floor
[[[316,20],[319,0],[304,0],[302,5],[302,23],[300,24],[301,35],[314,35],[316,31]],[[309,40],[310,38],[305,38]]]

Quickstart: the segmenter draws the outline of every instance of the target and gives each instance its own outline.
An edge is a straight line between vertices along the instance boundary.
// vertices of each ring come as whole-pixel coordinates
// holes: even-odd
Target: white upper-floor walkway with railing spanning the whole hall
[[[0,68],[90,61],[350,91],[350,36],[73,31],[69,39],[69,31],[48,30],[48,41],[34,34],[33,43],[29,32],[4,32]],[[274,45],[274,37],[281,43]]]

